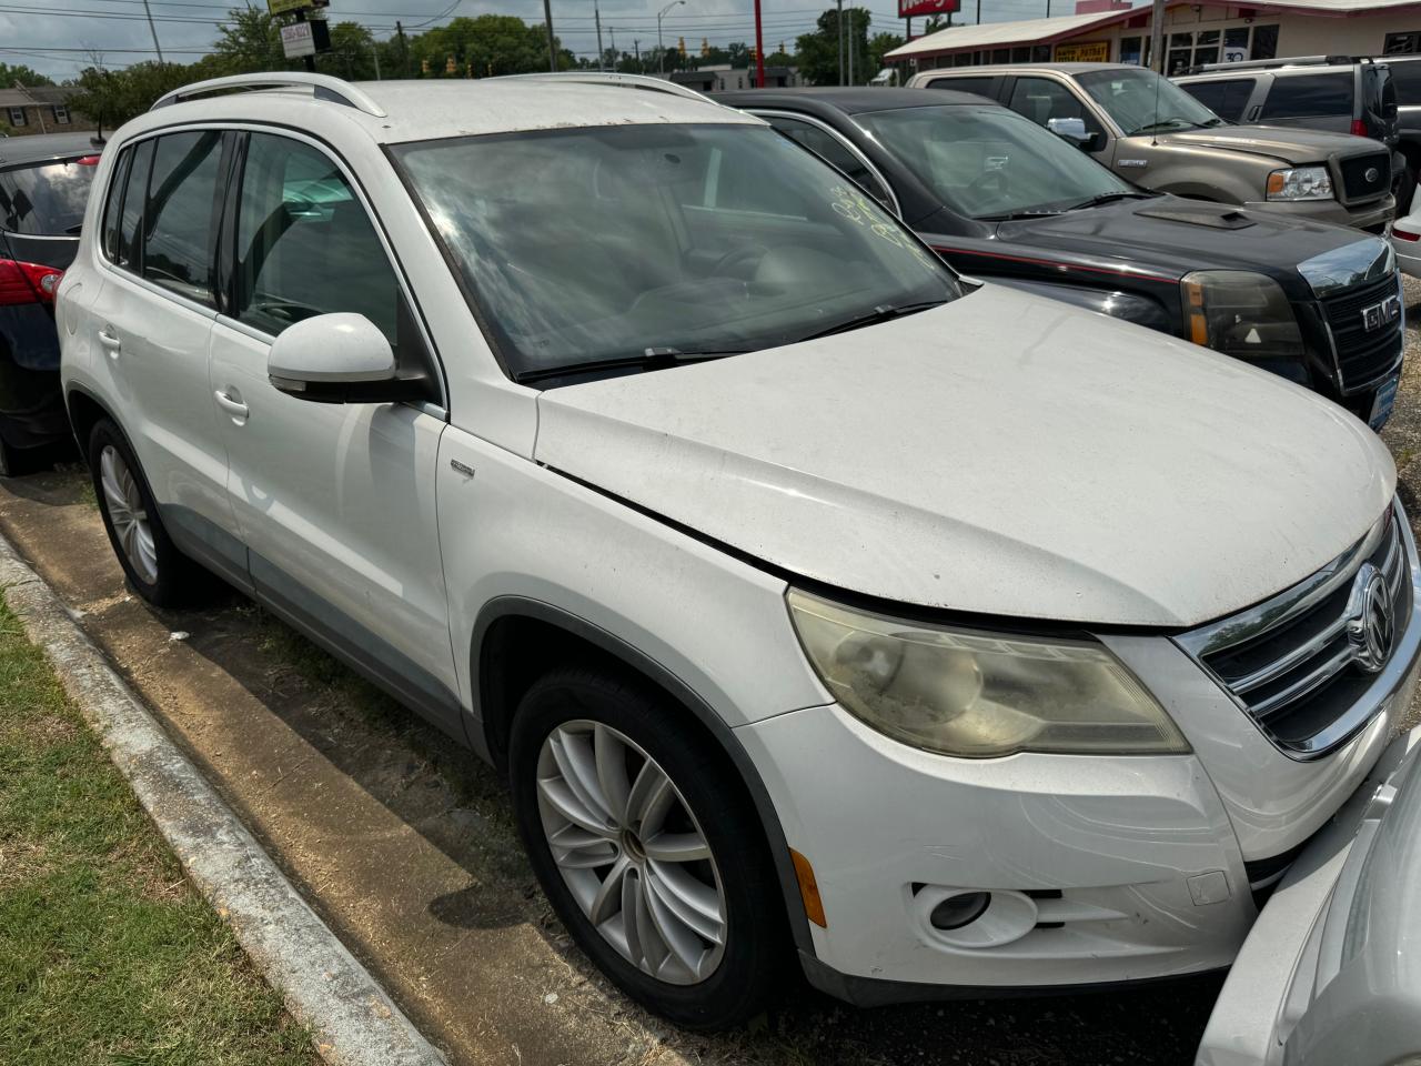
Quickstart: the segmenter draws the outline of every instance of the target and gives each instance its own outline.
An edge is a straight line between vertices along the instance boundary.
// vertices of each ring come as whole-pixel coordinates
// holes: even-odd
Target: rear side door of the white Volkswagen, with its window
[[[244,581],[230,539],[227,461],[207,388],[217,219],[233,135],[186,129],[125,149],[126,181],[88,314],[117,415],[183,550]]]

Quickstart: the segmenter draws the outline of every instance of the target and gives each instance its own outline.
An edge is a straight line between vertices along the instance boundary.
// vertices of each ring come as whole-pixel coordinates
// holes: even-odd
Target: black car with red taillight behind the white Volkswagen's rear
[[[0,476],[71,438],[54,290],[80,246],[99,151],[87,134],[0,139]]]

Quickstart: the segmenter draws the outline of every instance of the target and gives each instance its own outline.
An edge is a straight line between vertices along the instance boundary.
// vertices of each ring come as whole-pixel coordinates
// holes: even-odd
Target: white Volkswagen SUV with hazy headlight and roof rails
[[[171,94],[58,303],[134,588],[200,564],[504,769],[684,1025],[796,952],[860,1003],[1228,967],[1410,702],[1361,422],[962,281],[666,82]]]

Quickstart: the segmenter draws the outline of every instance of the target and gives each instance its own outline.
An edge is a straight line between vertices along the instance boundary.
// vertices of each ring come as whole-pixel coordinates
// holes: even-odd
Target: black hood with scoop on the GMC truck
[[[1357,243],[1357,230],[1177,196],[1121,200],[1022,222],[996,236],[1063,253],[1094,254],[1182,276],[1228,267],[1297,277],[1295,263]]]

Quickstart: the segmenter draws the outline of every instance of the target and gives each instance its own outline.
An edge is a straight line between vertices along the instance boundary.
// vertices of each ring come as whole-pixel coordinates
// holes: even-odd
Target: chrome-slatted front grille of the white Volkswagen
[[[1351,736],[1376,708],[1366,669],[1349,634],[1354,584],[1367,564],[1391,594],[1391,650],[1411,617],[1415,549],[1405,515],[1393,506],[1351,549],[1306,581],[1177,642],[1229,691],[1277,746],[1300,758],[1323,755]]]

